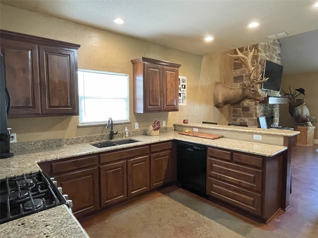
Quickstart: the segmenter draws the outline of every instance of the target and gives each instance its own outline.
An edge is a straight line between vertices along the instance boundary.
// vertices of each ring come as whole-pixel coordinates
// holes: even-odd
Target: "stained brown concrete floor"
[[[91,238],[316,238],[318,145],[293,146],[290,208],[257,223],[177,186],[80,221]]]

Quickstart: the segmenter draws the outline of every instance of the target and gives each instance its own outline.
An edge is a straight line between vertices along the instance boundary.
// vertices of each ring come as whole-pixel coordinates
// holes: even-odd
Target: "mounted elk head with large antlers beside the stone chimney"
[[[236,49],[238,55],[229,55],[231,57],[239,58],[239,60],[233,60],[234,62],[241,62],[245,65],[248,70],[249,83],[244,83],[240,88],[231,88],[224,83],[217,82],[213,91],[214,106],[222,108],[227,104],[234,106],[244,99],[253,99],[257,101],[263,101],[264,97],[257,91],[255,85],[262,84],[268,78],[263,78],[262,74],[259,74],[257,61],[256,65],[252,66],[252,57],[254,54],[254,48],[249,51],[247,56],[244,56]]]

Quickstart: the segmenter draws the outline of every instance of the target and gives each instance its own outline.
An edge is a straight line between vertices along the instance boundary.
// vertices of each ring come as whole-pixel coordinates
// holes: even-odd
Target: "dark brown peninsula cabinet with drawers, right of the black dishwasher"
[[[283,154],[273,157],[208,148],[206,193],[267,223],[282,206]]]

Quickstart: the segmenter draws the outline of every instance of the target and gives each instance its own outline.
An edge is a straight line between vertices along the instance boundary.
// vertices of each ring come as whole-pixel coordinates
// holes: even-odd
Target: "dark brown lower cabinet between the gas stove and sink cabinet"
[[[39,163],[54,177],[63,194],[73,202],[72,212],[79,218],[97,211],[99,206],[98,156],[85,155]]]

